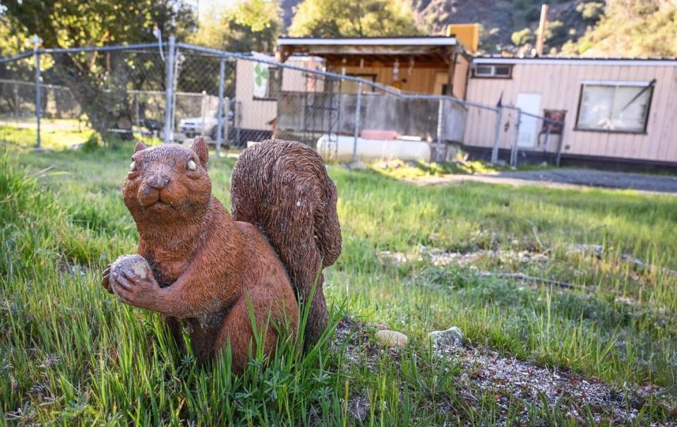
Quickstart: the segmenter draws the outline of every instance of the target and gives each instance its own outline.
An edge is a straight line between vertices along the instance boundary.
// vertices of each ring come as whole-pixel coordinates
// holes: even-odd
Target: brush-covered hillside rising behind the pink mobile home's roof
[[[541,4],[548,3],[545,53],[587,56],[677,56],[677,0],[413,0],[426,32],[450,23],[480,23],[481,52],[529,51]],[[284,28],[299,0],[281,0]]]

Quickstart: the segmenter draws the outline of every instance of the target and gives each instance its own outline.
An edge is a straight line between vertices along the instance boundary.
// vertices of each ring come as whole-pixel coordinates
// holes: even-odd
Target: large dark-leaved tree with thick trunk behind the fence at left
[[[49,48],[153,42],[154,27],[164,35],[185,38],[195,25],[193,9],[179,0],[4,0],[2,6],[1,20],[12,34],[40,35]],[[139,60],[137,66],[130,64],[132,56],[118,59],[98,52],[52,56],[50,71],[68,86],[102,136],[108,128],[131,124],[121,88],[140,78],[155,78],[164,85],[161,61]],[[141,67],[152,73],[140,73]]]

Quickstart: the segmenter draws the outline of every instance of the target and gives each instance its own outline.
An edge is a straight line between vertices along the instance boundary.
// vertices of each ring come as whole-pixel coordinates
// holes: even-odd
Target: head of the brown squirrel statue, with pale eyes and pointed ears
[[[122,193],[137,226],[203,219],[212,193],[207,158],[207,143],[200,137],[190,149],[136,143]]]

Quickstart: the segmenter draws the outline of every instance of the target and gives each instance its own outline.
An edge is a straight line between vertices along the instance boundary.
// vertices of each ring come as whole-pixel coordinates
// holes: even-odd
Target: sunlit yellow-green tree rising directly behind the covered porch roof
[[[406,0],[304,0],[289,27],[294,37],[420,35]]]

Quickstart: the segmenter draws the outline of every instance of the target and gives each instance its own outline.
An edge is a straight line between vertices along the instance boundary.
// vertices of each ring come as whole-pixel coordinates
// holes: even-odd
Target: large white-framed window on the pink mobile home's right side
[[[581,85],[577,130],[644,133],[654,81]]]

